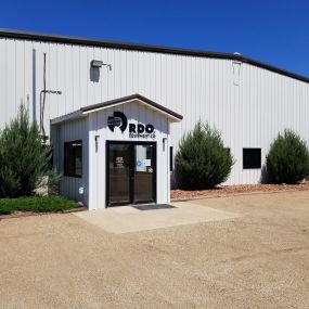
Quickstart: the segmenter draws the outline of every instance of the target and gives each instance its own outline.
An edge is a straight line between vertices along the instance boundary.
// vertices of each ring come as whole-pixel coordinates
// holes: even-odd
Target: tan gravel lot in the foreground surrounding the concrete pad
[[[0,221],[0,308],[308,308],[309,191],[194,201],[243,217],[110,234]]]

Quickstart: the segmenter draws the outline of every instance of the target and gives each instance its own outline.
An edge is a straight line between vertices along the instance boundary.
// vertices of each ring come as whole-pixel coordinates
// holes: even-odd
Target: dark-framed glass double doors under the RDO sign
[[[107,142],[107,205],[156,201],[156,145]]]

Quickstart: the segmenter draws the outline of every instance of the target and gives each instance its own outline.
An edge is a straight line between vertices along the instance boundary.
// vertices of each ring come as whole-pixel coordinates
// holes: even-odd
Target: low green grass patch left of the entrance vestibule
[[[56,213],[76,207],[76,202],[62,196],[25,196],[17,198],[0,198],[0,215],[10,215],[16,210],[33,213]]]

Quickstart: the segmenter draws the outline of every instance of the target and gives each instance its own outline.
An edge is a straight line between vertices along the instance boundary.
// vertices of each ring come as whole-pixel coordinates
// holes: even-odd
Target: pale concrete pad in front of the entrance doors
[[[121,206],[76,213],[74,215],[115,234],[241,217],[237,214],[218,210],[194,203],[179,202],[171,203],[170,205],[177,208],[139,210],[131,206]]]

